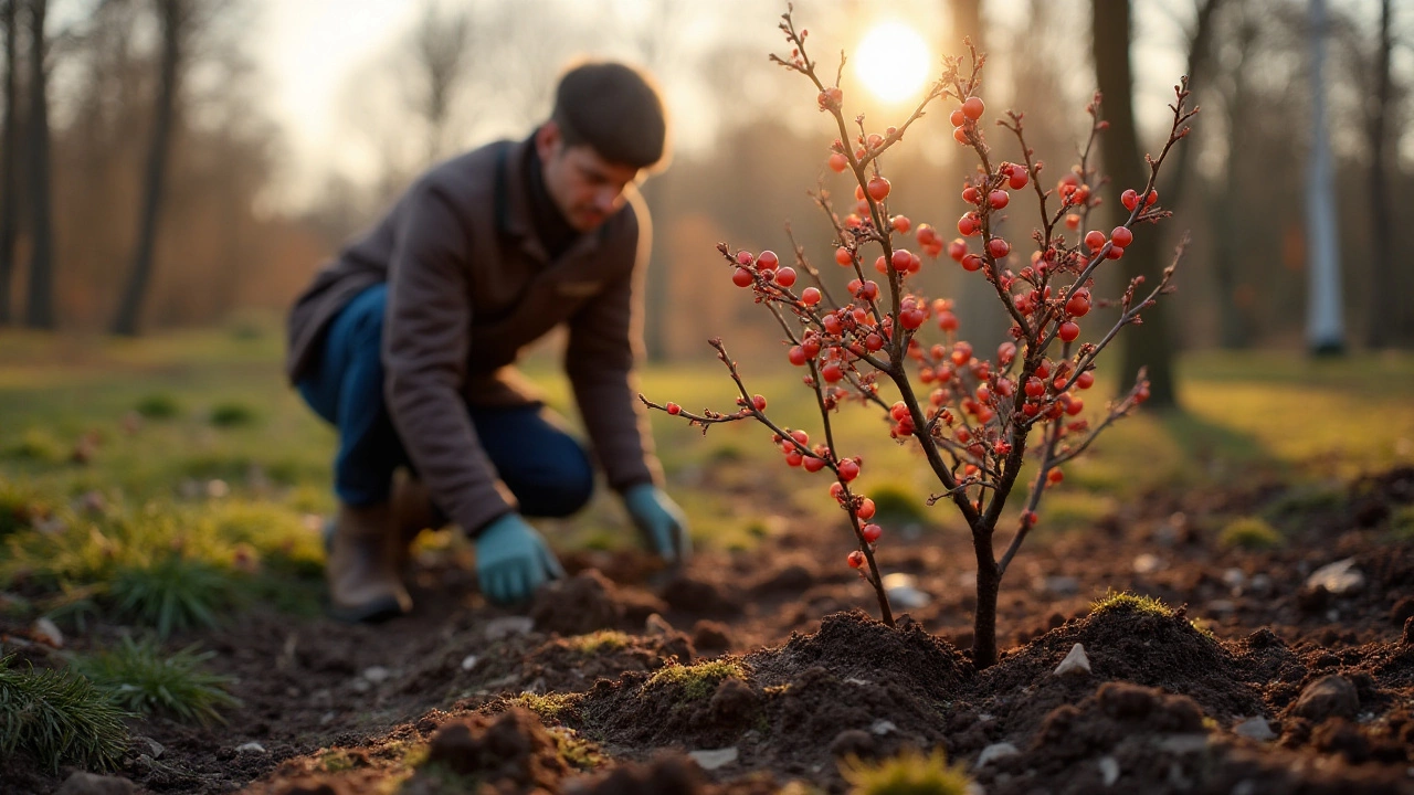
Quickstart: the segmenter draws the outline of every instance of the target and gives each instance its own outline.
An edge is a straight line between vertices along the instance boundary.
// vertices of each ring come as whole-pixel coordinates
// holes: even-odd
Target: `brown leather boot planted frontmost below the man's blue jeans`
[[[413,608],[397,576],[392,511],[387,502],[339,505],[325,579],[329,614],[348,622],[385,621]]]

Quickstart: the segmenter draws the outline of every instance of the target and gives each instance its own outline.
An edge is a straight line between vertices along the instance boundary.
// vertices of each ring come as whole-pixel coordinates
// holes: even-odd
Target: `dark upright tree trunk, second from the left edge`
[[[45,0],[30,0],[30,294],[25,325],[54,328],[54,202],[49,197],[49,95]]]

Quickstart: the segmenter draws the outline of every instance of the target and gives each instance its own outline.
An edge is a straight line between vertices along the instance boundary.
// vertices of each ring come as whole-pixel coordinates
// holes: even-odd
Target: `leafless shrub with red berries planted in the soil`
[[[781,30],[790,54],[771,55],[771,61],[810,83],[820,112],[839,134],[826,163],[833,171],[853,178],[853,204],[848,199],[837,204],[823,188],[813,194],[834,231],[834,262],[853,276],[846,286],[848,294],[836,300],[793,238],[788,262],[772,250],[732,250],[727,243],[717,248],[732,283],[749,290],[752,300],[765,304],[779,321],[785,358],[803,368],[802,381],[813,392],[823,434],[812,444],[807,431],[773,422],[766,413],[766,398],[747,389],[720,338],[711,340],[711,345],[737,386],[735,410],[691,413],[680,403],[641,399],[703,430],[717,423],[758,422],[771,429],[772,443],[788,465],[809,472],[827,471],[833,478],[830,497],[844,511],[854,540],[846,562],[872,586],[880,617],[892,625],[894,614],[875,559],[884,536],[882,525],[874,521],[878,505],[851,485],[864,461],[837,448],[833,426],[836,409],[851,402],[880,412],[889,434],[922,453],[936,475],[940,488],[928,504],[950,502],[973,535],[977,556],[973,661],[986,668],[997,662],[1001,579],[1036,523],[1042,494],[1063,480],[1065,464],[1150,396],[1148,379],[1140,371],[1134,386],[1099,413],[1094,424],[1080,416],[1085,412],[1082,393],[1094,385],[1100,354],[1126,325],[1141,323],[1141,311],[1171,290],[1178,256],[1157,284],[1145,286],[1144,279],[1135,276],[1117,297],[1092,296],[1092,290],[1097,290],[1097,269],[1123,257],[1137,228],[1169,216],[1158,205],[1155,184],[1169,151],[1188,134],[1185,123],[1193,112],[1185,109],[1186,79],[1176,86],[1175,102],[1169,106],[1168,140],[1158,157],[1148,158],[1147,182],[1126,185],[1123,194],[1111,197],[1110,201],[1117,198],[1127,215],[1106,233],[1090,225],[1090,214],[1100,205],[1107,182],[1092,163],[1094,143],[1109,126],[1100,116],[1099,95],[1086,108],[1090,130],[1079,147],[1079,163],[1060,174],[1053,190],[1046,190],[1019,113],[1008,112],[997,119],[997,126],[1010,133],[1007,137],[1015,139],[1018,161],[1000,160],[998,149],[987,141],[981,122],[986,105],[977,96],[986,58],[970,44],[970,69],[962,58],[945,58],[940,79],[913,113],[898,126],[870,133],[864,116],[846,116],[840,88],[823,82],[807,52],[805,33],[796,30],[790,11],[782,16]],[[839,81],[837,74],[834,78]],[[974,153],[981,166],[963,185],[962,198],[969,208],[956,224],[962,236],[952,242],[933,226],[915,225],[899,212],[880,160],[899,144],[929,105],[949,98],[957,103],[952,109],[952,137]],[[1029,236],[1017,228],[1015,215],[1019,214],[1015,208],[1004,212],[1012,201],[1011,191],[1017,192],[1017,208],[1028,199],[1038,209],[1041,226]],[[1056,198],[1059,207],[1053,204]],[[909,235],[916,252],[904,245]],[[977,242],[970,243],[970,238]],[[1014,243],[1019,253],[1027,240],[1035,242],[1029,262],[1012,262]],[[1179,245],[1178,255],[1182,249]],[[984,280],[1005,311],[1008,341],[997,348],[995,358],[974,351],[962,337],[962,320],[952,301],[930,300],[911,282],[922,270],[925,257],[935,260],[943,250],[962,267],[964,279],[976,274]],[[880,282],[871,279],[872,272],[880,274]],[[806,280],[809,286],[796,287],[796,282]],[[1094,306],[1111,306],[1117,311],[1103,321],[1085,320]],[[1090,330],[1085,340],[1080,323]],[[923,332],[935,334],[926,328],[929,325],[940,332],[940,341],[922,341]],[[892,390],[895,398],[885,399],[885,390]],[[1024,504],[1012,505],[1010,522],[1015,530],[998,557],[994,538],[1028,451],[1036,461],[1035,475],[1025,499],[1018,498]]]

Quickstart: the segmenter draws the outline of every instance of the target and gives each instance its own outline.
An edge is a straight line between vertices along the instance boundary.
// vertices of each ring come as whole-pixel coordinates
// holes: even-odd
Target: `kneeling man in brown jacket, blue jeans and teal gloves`
[[[522,516],[578,511],[594,474],[512,366],[561,324],[566,373],[609,485],[652,550],[667,562],[689,553],[632,382],[650,235],[633,185],[665,144],[662,100],[642,74],[570,69],[530,139],[430,170],[298,298],[287,372],[339,431],[332,615],[410,610],[400,562],[417,530],[444,519],[475,539],[493,603],[563,574]],[[416,480],[395,488],[400,465]]]

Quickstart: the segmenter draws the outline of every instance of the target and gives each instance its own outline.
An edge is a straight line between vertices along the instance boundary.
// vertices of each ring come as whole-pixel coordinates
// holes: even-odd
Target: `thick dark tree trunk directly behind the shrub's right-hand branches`
[[[1127,0],[1093,0],[1092,45],[1094,76],[1103,95],[1103,115],[1110,129],[1102,139],[1100,153],[1104,170],[1118,194],[1126,188],[1143,190],[1148,184],[1148,168],[1140,150],[1134,127],[1133,79],[1130,76],[1130,3]],[[1162,197],[1161,197],[1162,199]],[[1116,198],[1106,202],[1121,208]],[[1164,201],[1162,204],[1168,204]],[[1157,284],[1164,267],[1159,235],[1140,229],[1134,242],[1124,249],[1127,274],[1143,274],[1147,284]],[[1164,304],[1144,310],[1144,323],[1124,331],[1120,361],[1120,392],[1127,392],[1140,368],[1148,368],[1150,406],[1172,409],[1178,405],[1174,388],[1174,342],[1168,334]]]

